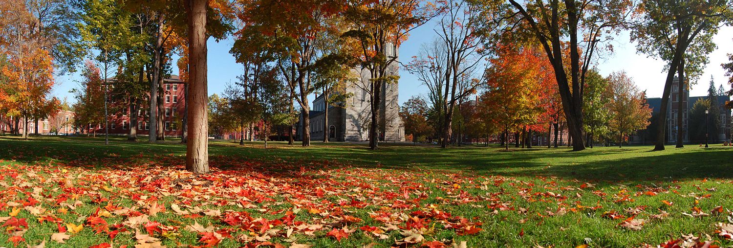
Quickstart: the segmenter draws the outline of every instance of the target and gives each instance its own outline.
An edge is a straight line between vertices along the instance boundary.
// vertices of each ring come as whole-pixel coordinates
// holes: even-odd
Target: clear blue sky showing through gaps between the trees
[[[402,62],[408,62],[412,56],[418,54],[421,45],[429,43],[435,39],[433,28],[435,23],[426,23],[423,26],[413,30],[409,39],[399,48],[399,56]],[[730,86],[727,84],[725,71],[721,68],[721,63],[728,62],[726,54],[733,53],[733,27],[725,26],[721,28],[714,38],[718,44],[712,54],[710,54],[710,64],[707,65],[704,75],[700,77],[698,84],[694,84],[690,95],[707,95],[707,87],[710,76],[713,76],[716,87],[723,84],[726,90]],[[221,40],[216,43],[213,39],[208,40],[208,87],[209,94],[221,93],[227,83],[237,81],[237,76],[242,72],[242,66],[235,62],[232,54],[229,54],[229,48],[234,43],[231,39]],[[614,54],[604,56],[599,61],[597,68],[603,76],[608,76],[616,70],[626,70],[628,75],[632,76],[636,81],[636,85],[641,90],[647,90],[647,95],[651,98],[660,97],[666,73],[663,72],[665,63],[658,59],[652,59],[645,54],[636,53],[636,44],[630,43],[628,32],[622,32],[615,40],[611,42],[614,45]],[[177,58],[174,58],[177,59]],[[174,68],[174,74],[178,69]],[[73,95],[69,91],[78,87],[78,73],[56,77],[56,87],[53,94],[57,97],[64,98],[74,102]],[[400,70],[399,79],[399,103],[404,103],[412,95],[424,95],[427,93],[427,87],[421,85],[416,76],[411,75],[405,70]],[[311,99],[313,96],[311,96]]]

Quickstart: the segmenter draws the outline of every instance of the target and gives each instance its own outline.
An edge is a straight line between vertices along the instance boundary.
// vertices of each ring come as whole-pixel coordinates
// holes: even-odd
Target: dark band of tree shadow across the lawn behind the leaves
[[[246,161],[268,164],[265,173],[287,176],[300,166],[344,166],[388,169],[446,169],[476,175],[505,175],[521,177],[559,177],[605,183],[646,183],[692,178],[733,178],[732,147],[688,147],[649,152],[650,147],[597,147],[581,152],[566,152],[562,148],[532,148],[503,151],[501,147],[424,147],[413,145],[382,145],[369,150],[366,145],[345,143],[315,143],[312,147],[284,142],[211,142],[212,165],[221,169],[246,167]],[[49,159],[81,167],[107,167],[114,164],[135,166],[157,163],[156,166],[180,167],[185,163],[185,145],[177,141],[147,144],[103,138],[38,137],[29,141],[0,137],[0,159],[28,164],[47,163]],[[229,163],[227,160],[232,160]],[[239,164],[237,164],[239,163]],[[284,166],[278,166],[282,164]],[[338,164],[338,163],[336,163]]]

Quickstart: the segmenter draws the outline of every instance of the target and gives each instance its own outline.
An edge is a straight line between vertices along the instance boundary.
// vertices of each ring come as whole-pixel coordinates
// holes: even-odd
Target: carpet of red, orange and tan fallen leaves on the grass
[[[485,223],[476,216],[451,213],[448,206],[476,208],[483,216],[510,212],[523,216],[520,223],[597,213],[617,223],[619,230],[638,231],[669,214],[647,206],[605,210],[600,201],[581,205],[578,199],[592,194],[608,203],[631,203],[637,197],[677,194],[671,188],[647,186],[637,192],[624,187],[603,192],[592,183],[560,186],[556,178],[542,177],[537,180],[545,190],[537,191],[533,182],[509,177],[279,158],[213,157],[213,172],[196,175],[183,169],[181,156],[145,159],[0,161],[0,235],[8,236],[0,245],[44,247],[74,241],[76,246],[92,242],[92,247],[312,247],[309,241],[318,238],[339,246],[358,236],[366,247],[376,244],[371,241],[393,247],[466,247],[470,244],[458,237],[483,232]],[[508,199],[558,207],[531,211]],[[660,204],[674,205],[666,200]],[[683,214],[699,218],[727,213],[723,207],[694,207]],[[733,219],[716,229],[716,237],[733,239]],[[436,235],[446,232],[454,238]],[[518,238],[524,235],[524,229],[517,231]],[[715,244],[711,236],[682,236],[642,247]]]

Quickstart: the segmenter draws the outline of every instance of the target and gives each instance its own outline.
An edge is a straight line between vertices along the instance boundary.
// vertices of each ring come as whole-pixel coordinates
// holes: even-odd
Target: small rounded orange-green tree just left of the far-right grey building
[[[639,91],[633,79],[625,71],[611,73],[608,76],[608,90],[611,90],[611,101],[608,110],[611,112],[609,128],[619,136],[619,147],[625,136],[647,128],[652,109],[649,109],[644,92]]]

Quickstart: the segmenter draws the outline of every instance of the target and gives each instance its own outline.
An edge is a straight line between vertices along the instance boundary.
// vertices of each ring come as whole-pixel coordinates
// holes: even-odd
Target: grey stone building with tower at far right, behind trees
[[[677,142],[677,132],[681,131],[683,132],[683,135],[685,136],[685,139],[682,140],[682,142],[689,143],[690,142],[690,135],[689,135],[689,128],[688,124],[690,123],[689,117],[688,117],[688,110],[692,109],[693,105],[696,101],[699,99],[707,99],[707,96],[693,96],[690,97],[690,90],[689,88],[685,88],[682,93],[682,102],[679,102],[679,79],[677,77],[674,77],[674,80],[672,81],[672,89],[669,94],[669,102],[668,102],[668,109],[667,109],[667,120],[665,122],[665,140],[667,144],[674,144]],[[726,95],[718,96],[718,104],[720,104],[719,108],[721,109],[720,116],[718,117],[721,120],[721,127],[719,130],[710,131],[710,142],[717,143],[717,142],[724,142],[726,140],[730,139],[731,135],[731,109],[727,109],[725,104],[726,101],[730,101],[730,98]],[[647,103],[649,103],[649,107],[652,108],[652,116],[657,117],[657,114],[659,113],[659,109],[662,105],[662,99],[661,98],[647,98]],[[679,104],[682,104],[682,114],[677,112],[677,106]],[[682,127],[679,127],[677,125],[677,118],[682,117]],[[644,131],[642,131],[644,132]],[[644,140],[643,137],[641,137],[641,133],[637,136],[633,137],[633,141],[630,141],[632,143],[648,143],[653,141]]]

